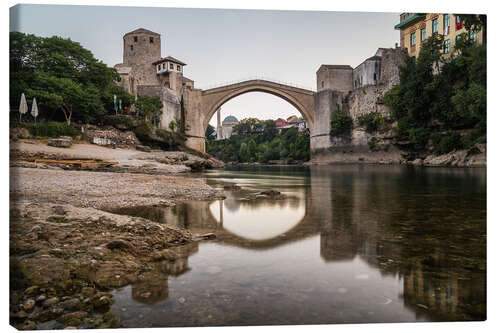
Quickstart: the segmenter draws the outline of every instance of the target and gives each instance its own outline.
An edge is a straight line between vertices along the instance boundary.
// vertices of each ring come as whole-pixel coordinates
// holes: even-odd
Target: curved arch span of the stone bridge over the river
[[[191,145],[205,151],[205,130],[212,116],[224,103],[249,92],[263,92],[282,98],[299,111],[309,128],[314,128],[314,91],[268,80],[247,80],[201,91],[198,116],[192,124],[187,124]]]

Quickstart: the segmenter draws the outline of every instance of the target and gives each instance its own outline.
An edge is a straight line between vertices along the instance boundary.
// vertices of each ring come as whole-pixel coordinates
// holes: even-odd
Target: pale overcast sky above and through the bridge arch
[[[162,56],[187,63],[195,87],[263,76],[316,87],[321,64],[353,68],[399,41],[398,13],[20,5],[10,30],[71,38],[109,66],[122,62],[122,36],[137,28],[161,34]],[[288,102],[247,93],[222,106],[222,117],[286,118]],[[215,125],[215,116],[211,124]]]

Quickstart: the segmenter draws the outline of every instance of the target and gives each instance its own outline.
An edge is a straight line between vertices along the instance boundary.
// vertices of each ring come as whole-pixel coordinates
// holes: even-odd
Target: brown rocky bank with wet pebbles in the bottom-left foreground
[[[108,291],[165,279],[185,247],[196,246],[189,231],[94,208],[18,201],[10,214],[10,320],[18,329],[120,327]]]

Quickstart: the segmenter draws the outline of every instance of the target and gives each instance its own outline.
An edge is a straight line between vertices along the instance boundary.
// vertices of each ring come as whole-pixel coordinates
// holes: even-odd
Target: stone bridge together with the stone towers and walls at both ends
[[[291,103],[304,116],[311,133],[312,159],[315,156],[367,151],[370,136],[355,128],[350,139],[330,136],[331,113],[359,116],[372,111],[389,116],[382,104],[386,91],[399,83],[399,66],[404,48],[379,48],[355,69],[349,65],[321,65],[316,72],[317,91],[309,91],[265,80],[250,80],[209,90],[196,89],[183,75],[186,65],[171,56],[161,57],[161,36],[136,29],[123,36],[123,63],[115,65],[120,82],[135,95],[158,96],[163,103],[160,126],[185,124],[186,145],[205,151],[205,130],[210,118],[228,100],[251,91],[274,94]]]

